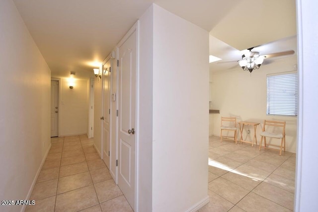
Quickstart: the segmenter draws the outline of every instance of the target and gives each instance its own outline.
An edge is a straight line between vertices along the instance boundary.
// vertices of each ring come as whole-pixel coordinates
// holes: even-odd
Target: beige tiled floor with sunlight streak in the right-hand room
[[[209,138],[210,203],[199,212],[290,212],[296,154]]]

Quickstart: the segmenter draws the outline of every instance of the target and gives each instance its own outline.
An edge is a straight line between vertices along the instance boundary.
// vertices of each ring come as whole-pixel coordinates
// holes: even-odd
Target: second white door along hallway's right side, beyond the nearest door
[[[103,160],[109,169],[110,156],[110,63],[103,64]]]

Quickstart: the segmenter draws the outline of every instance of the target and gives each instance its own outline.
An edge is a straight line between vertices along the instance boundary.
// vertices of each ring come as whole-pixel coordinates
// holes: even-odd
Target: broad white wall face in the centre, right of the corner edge
[[[153,33],[153,211],[187,211],[208,199],[209,33],[156,4]]]

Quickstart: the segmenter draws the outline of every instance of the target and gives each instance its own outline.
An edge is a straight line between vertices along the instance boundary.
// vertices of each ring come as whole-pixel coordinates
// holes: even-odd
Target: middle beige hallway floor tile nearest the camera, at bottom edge
[[[80,211],[98,204],[93,185],[56,196],[55,212]]]

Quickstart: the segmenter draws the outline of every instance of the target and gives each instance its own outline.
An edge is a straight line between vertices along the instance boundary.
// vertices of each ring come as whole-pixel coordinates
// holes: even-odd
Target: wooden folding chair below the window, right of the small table
[[[269,126],[274,127],[272,132],[269,131],[269,129],[268,129]],[[275,148],[271,148],[271,147],[266,146],[266,137],[272,138],[272,139],[280,139],[281,140],[280,145],[276,145],[276,144],[267,144],[267,145],[280,147],[280,149],[275,149],[275,150],[279,150],[279,156],[281,156],[282,155],[282,148],[284,147],[284,151],[285,151],[285,144],[286,144],[285,126],[286,126],[286,122],[264,120],[263,132],[261,132],[261,134],[260,134],[261,139],[260,139],[260,144],[259,144],[259,150],[262,147],[263,138],[264,138],[264,146],[263,147],[270,148],[270,149],[275,149]]]

